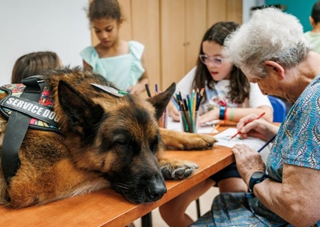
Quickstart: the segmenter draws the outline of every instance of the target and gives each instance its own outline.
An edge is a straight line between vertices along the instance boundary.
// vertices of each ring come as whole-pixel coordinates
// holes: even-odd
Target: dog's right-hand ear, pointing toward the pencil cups
[[[159,93],[158,95],[154,95],[148,99],[150,103],[156,109],[156,119],[159,119],[163,114],[163,111],[166,110],[166,107],[176,90],[176,83],[172,83],[169,88],[167,88],[164,92]]]

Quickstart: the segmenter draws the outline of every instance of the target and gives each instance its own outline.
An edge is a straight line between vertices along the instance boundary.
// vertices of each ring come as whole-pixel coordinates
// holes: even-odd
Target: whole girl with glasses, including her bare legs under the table
[[[183,97],[191,94],[192,90],[205,88],[199,106],[199,124],[214,119],[237,122],[250,113],[261,115],[263,112],[263,119],[270,122],[273,119],[268,97],[261,93],[257,84],[250,83],[237,66],[223,57],[223,43],[228,34],[238,27],[237,23],[224,21],[209,28],[201,41],[197,66],[177,83],[177,92],[181,92]],[[168,112],[172,119],[179,121],[179,110],[173,103],[168,105]],[[232,164],[161,206],[161,217],[170,227],[192,224],[193,220],[185,213],[186,208],[212,186],[218,186],[220,193],[247,190],[237,167]]]

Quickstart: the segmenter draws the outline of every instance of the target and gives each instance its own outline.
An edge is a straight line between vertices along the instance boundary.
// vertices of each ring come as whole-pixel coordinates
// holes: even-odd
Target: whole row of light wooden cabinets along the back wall
[[[118,0],[121,39],[146,47],[151,90],[179,81],[195,65],[204,32],[217,21],[242,22],[242,0]],[[97,39],[92,32],[92,43]]]

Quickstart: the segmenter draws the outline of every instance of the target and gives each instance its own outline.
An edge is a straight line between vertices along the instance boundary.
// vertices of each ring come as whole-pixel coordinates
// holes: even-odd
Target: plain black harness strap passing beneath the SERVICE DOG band
[[[23,90],[21,97],[39,101],[41,92],[46,85],[43,76],[27,77],[22,80],[22,83],[26,85],[26,88]],[[10,178],[16,175],[20,167],[19,149],[28,130],[30,119],[31,117],[15,110],[12,110],[8,119],[1,152],[1,167],[7,184]]]

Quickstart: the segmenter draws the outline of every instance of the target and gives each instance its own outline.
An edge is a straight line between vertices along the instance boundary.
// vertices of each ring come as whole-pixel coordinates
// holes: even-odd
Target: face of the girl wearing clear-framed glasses
[[[223,58],[223,47],[214,41],[203,41],[202,50],[203,54],[206,55],[206,66],[212,79],[214,79],[214,81],[230,79],[230,72],[233,65],[230,61]],[[219,63],[220,60],[221,63]]]

